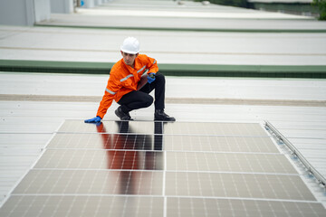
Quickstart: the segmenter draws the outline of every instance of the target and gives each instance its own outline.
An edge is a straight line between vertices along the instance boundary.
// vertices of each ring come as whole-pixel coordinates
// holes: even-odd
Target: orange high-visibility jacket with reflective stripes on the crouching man
[[[113,99],[118,102],[123,95],[137,90],[138,82],[144,71],[148,71],[148,74],[158,72],[157,61],[145,54],[139,54],[136,57],[135,68],[126,65],[123,58],[115,63],[110,71],[108,85],[96,116],[103,118]]]

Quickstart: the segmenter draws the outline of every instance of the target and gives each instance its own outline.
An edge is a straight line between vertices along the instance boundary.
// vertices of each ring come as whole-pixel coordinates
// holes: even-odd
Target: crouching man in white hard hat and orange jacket
[[[85,123],[98,123],[110,108],[113,99],[120,105],[115,114],[120,120],[131,120],[129,111],[147,108],[153,103],[149,93],[155,89],[154,120],[175,121],[165,112],[165,78],[158,73],[155,59],[139,54],[139,42],[128,37],[120,46],[122,59],[115,63],[110,71],[110,79],[96,117],[85,120]],[[147,73],[148,82],[138,90],[141,76]]]

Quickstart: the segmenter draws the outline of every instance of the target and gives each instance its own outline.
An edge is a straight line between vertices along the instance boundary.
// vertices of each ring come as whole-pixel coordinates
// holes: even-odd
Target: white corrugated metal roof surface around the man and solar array
[[[90,13],[93,12],[92,9]],[[62,22],[69,23],[73,16],[62,16]],[[58,17],[53,15],[54,19]],[[270,21],[264,22],[266,25]],[[280,24],[274,22],[274,26]],[[307,23],[296,24],[304,29]],[[318,28],[322,29],[322,25]],[[120,59],[120,42],[132,34],[142,42],[142,51],[164,63],[323,65],[326,62],[325,33],[186,33],[13,26],[0,26],[0,33],[1,60],[113,62]],[[62,121],[95,115],[108,77],[33,71],[0,73],[2,202],[41,155]],[[218,99],[218,102],[202,103],[199,99]],[[326,80],[167,77],[166,111],[177,121],[268,120],[324,176],[325,100]],[[114,103],[104,119],[118,120],[113,112],[116,108]],[[130,115],[136,120],[152,120],[153,110],[153,107],[139,109]],[[315,181],[307,177],[305,182]],[[325,205],[324,195],[319,196]]]

